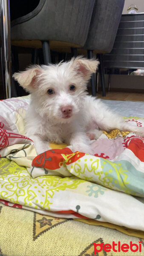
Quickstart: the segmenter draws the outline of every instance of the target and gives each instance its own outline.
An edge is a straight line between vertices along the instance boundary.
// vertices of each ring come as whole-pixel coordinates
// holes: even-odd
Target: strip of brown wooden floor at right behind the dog
[[[112,99],[112,100],[130,100],[144,102],[144,93],[126,93],[126,92],[107,92],[106,97],[102,97],[102,93],[97,93],[99,99]]]

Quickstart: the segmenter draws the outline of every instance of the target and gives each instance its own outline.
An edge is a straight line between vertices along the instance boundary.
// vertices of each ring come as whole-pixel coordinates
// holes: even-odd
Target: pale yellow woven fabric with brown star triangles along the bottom
[[[2,256],[94,256],[94,245],[138,244],[139,238],[106,227],[72,219],[41,215],[37,212],[8,207],[0,203],[0,255]],[[96,256],[142,256],[142,251],[105,252]]]

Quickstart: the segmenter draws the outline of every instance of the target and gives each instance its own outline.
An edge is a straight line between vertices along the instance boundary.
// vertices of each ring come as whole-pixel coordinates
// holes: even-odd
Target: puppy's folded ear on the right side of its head
[[[95,73],[99,61],[95,59],[86,59],[82,56],[78,56],[76,58],[72,58],[70,61],[70,64],[72,67],[75,68],[75,70],[81,74],[81,76],[84,77],[86,81],[88,81],[92,75],[92,73]]]

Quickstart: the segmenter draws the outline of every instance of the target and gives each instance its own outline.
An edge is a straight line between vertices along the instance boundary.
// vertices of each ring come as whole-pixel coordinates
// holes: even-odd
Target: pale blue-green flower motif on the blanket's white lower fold
[[[101,185],[92,184],[91,186],[87,186],[89,188],[86,192],[89,192],[88,196],[94,196],[98,198],[99,195],[104,195],[104,192],[107,190]]]

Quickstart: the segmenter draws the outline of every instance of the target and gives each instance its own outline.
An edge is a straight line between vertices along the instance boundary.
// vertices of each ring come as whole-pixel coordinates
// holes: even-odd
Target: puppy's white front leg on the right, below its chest
[[[75,132],[69,139],[70,145],[73,147],[73,151],[80,151],[87,154],[93,154],[93,149],[90,145],[89,137],[84,132]]]

